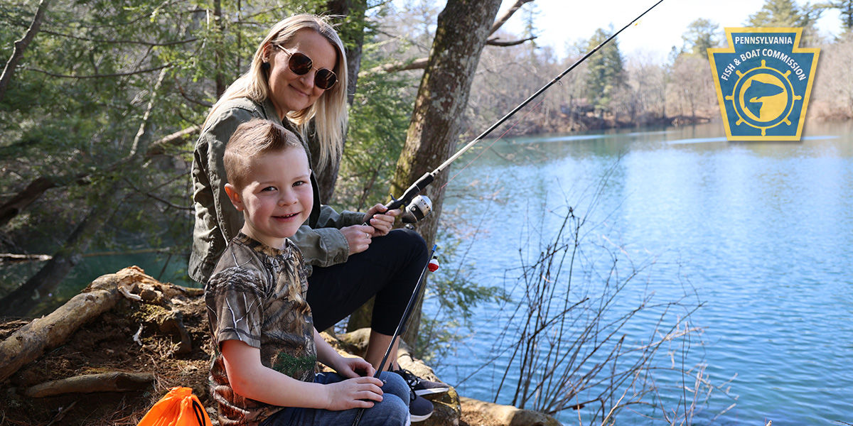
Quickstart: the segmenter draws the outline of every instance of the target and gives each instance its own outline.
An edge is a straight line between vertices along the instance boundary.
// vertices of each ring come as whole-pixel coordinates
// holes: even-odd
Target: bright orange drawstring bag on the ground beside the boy
[[[172,388],[142,417],[137,426],[210,426],[205,408],[193,389]]]

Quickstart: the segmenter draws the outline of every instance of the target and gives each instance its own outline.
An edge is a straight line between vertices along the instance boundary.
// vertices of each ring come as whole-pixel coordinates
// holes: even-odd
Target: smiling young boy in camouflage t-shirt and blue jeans
[[[225,192],[245,222],[205,286],[219,423],[351,424],[363,407],[364,426],[408,424],[403,379],[372,377],[367,361],[340,356],[314,328],[302,254],[287,239],[313,202],[299,140],[279,124],[252,120],[237,127],[223,161]],[[338,374],[315,374],[316,360]]]

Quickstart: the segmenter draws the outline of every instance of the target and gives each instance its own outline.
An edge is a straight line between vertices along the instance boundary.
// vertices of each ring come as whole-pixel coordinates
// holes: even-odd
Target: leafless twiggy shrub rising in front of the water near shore
[[[606,177],[583,212],[565,208],[553,237],[519,247],[521,266],[505,275],[515,302],[498,315],[508,326],[484,362],[506,366],[495,401],[565,412],[564,423],[580,425],[613,424],[629,407],[666,424],[693,424],[711,391],[725,394],[688,357],[702,332],[692,315],[704,302],[688,284],[676,300],[659,300],[648,289],[653,258],[632,259],[610,240],[589,238],[600,234],[590,217]],[[647,337],[628,337],[637,322]]]

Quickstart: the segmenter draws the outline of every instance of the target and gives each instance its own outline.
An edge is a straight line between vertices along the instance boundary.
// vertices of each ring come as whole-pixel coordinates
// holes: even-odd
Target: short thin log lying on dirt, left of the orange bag
[[[111,371],[84,374],[61,380],[40,383],[24,391],[31,398],[44,398],[60,394],[91,394],[95,392],[129,392],[146,389],[154,382],[154,374]]]

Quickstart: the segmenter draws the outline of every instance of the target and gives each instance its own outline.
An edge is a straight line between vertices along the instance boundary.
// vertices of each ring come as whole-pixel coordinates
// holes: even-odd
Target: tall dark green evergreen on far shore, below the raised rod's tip
[[[589,39],[588,50],[604,42],[612,32],[599,28]],[[622,55],[617,40],[612,40],[587,60],[584,76],[587,101],[599,111],[607,111],[624,82]]]

